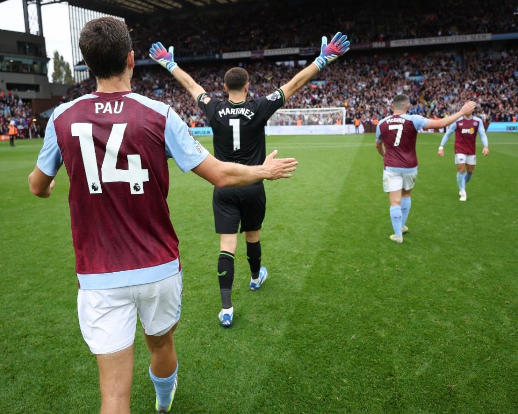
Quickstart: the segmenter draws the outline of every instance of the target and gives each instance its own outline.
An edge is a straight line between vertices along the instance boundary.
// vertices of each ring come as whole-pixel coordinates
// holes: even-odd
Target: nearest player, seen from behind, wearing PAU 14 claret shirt
[[[275,159],[276,151],[263,165],[219,161],[170,106],[132,93],[135,59],[121,20],[88,22],[79,47],[97,91],[54,110],[28,181],[35,195],[48,197],[66,166],[79,324],[97,356],[100,412],[130,412],[137,314],[151,352],[155,410],[170,412],[182,269],[166,202],[168,158],[217,187],[287,178],[297,162]]]

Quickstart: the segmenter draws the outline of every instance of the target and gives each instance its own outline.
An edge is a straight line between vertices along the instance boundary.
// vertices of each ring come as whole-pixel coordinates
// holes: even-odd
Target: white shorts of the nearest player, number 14
[[[112,354],[135,341],[137,314],[148,335],[160,336],[180,319],[182,272],[158,282],[113,289],[79,289],[77,311],[93,354]]]

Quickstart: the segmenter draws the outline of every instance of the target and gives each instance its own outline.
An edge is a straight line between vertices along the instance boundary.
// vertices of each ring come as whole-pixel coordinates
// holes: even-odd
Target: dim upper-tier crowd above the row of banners
[[[368,6],[368,7],[367,7]],[[511,33],[518,31],[513,14],[515,2],[494,3],[472,0],[437,0],[433,3],[382,0],[348,3],[258,2],[236,4],[222,11],[203,14],[177,13],[174,21],[163,17],[152,21],[128,22],[132,28],[137,59],[148,58],[149,45],[156,40],[175,44],[175,55],[199,56],[223,52],[315,47],[330,27],[341,27],[351,34],[354,44],[396,39],[452,36],[473,33]],[[379,13],[379,10],[383,10]],[[286,19],[289,17],[289,19]],[[222,22],[226,24],[222,30]],[[329,33],[330,35],[330,33]],[[316,39],[316,40],[315,40]]]

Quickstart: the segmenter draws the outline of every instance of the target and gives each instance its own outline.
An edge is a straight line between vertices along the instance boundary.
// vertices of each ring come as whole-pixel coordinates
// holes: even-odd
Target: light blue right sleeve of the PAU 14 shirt
[[[177,163],[182,172],[197,167],[209,155],[202,144],[196,141],[185,122],[172,109],[165,124],[165,150],[168,158]]]

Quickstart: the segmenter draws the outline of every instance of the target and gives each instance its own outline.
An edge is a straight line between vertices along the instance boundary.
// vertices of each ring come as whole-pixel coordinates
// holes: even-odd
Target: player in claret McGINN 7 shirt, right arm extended
[[[376,148],[383,157],[383,191],[389,193],[390,217],[394,234],[390,239],[403,242],[403,233],[410,206],[410,195],[418,176],[418,157],[415,141],[423,128],[444,128],[459,117],[471,113],[474,102],[467,102],[460,111],[442,119],[427,119],[421,115],[408,115],[410,101],[406,95],[396,95],[392,100],[393,115],[383,118],[376,127]]]

